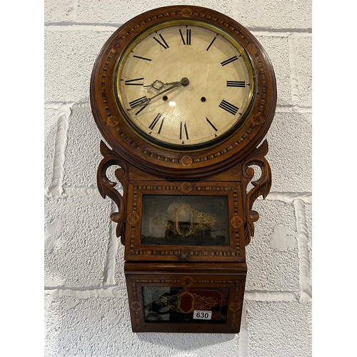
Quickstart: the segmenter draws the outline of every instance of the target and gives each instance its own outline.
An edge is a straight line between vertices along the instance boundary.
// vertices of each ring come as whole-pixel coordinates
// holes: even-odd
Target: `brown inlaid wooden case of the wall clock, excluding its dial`
[[[253,64],[256,90],[246,120],[231,136],[206,149],[174,151],[151,144],[126,123],[116,104],[113,82],[122,51],[141,31],[159,21],[188,18],[221,26],[243,44]],[[249,31],[217,11],[198,6],[151,10],[121,26],[104,44],[91,76],[91,108],[111,148],[101,141],[104,159],[97,182],[101,196],[109,196],[118,207],[111,220],[125,246],[133,331],[239,332],[247,270],[245,247],[258,220],[252,206],[271,188],[271,169],[265,159],[268,143],[263,138],[275,107],[276,81],[265,51]],[[119,166],[115,176],[122,191],[107,176],[111,166]],[[255,181],[252,166],[261,169]],[[145,241],[143,212],[148,196],[153,202],[164,197],[173,203],[219,197],[226,202],[226,241],[201,244],[187,239],[184,243],[181,237],[181,241],[166,240],[166,244],[150,236]],[[188,210],[188,214],[193,213]],[[192,224],[190,227],[193,229]],[[193,316],[206,310],[211,311],[209,320]]]

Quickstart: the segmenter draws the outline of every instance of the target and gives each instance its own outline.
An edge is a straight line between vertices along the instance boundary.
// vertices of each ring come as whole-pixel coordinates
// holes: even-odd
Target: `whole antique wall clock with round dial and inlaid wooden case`
[[[110,146],[101,141],[97,181],[118,207],[133,331],[238,333],[252,206],[271,188],[266,52],[217,11],[154,9],[104,44],[91,108]]]

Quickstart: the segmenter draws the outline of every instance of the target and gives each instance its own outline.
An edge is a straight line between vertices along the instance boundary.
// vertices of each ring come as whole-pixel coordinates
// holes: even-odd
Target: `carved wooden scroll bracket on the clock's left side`
[[[98,171],[97,171],[97,185],[99,193],[103,198],[109,196],[118,207],[118,211],[111,213],[111,220],[116,224],[116,236],[121,236],[121,243],[124,244],[124,232],[125,232],[125,216],[126,216],[126,206],[124,196],[128,190],[129,183],[129,166],[126,161],[116,154],[115,151],[111,150],[104,144],[104,141],[101,141],[100,145],[101,154],[104,156],[104,159],[101,160]],[[121,186],[123,186],[123,195],[115,188],[116,182],[109,180],[106,176],[106,172],[111,166],[120,166],[119,169],[116,169],[115,176],[118,178]]]

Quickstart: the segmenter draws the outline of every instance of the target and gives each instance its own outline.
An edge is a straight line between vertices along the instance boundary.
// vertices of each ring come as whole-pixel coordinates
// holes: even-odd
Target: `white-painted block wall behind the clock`
[[[276,71],[268,131],[273,184],[247,247],[241,333],[131,332],[124,249],[96,188],[101,136],[89,80],[125,21],[191,4],[233,17]],[[46,356],[311,356],[311,1],[45,0]]]

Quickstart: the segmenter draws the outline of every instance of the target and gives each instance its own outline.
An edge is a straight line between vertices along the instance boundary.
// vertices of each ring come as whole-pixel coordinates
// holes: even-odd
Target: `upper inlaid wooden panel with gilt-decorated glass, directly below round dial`
[[[245,261],[238,182],[134,181],[128,261]]]

